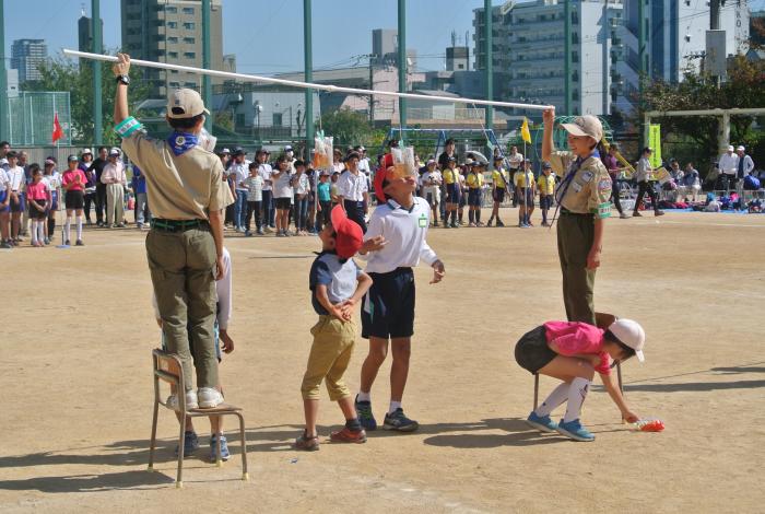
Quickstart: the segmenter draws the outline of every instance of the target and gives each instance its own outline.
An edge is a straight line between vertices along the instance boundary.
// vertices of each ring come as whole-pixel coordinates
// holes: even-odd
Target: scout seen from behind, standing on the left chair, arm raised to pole
[[[130,57],[117,55],[114,120],[122,150],[144,173],[149,205],[155,218],[146,236],[146,257],[167,349],[177,353],[186,378],[186,405],[212,408],[223,401],[215,389],[217,359],[215,279],[225,273],[223,211],[233,202],[223,182],[223,165],[198,145],[204,126],[199,93],[175,90],[167,103],[167,140],[149,138],[128,113]],[[193,389],[193,342],[197,387]]]

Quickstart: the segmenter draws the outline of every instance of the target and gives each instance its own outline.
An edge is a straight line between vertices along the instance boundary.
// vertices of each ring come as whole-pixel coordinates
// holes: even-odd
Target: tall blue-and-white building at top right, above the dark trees
[[[638,23],[640,0],[624,0],[625,23],[619,27],[614,57],[623,66],[615,87],[615,106],[635,108],[638,94]],[[687,71],[698,72],[704,63],[709,2],[704,0],[644,0],[646,60],[650,80],[680,82]],[[746,1],[729,0],[720,9],[720,28],[726,31],[727,55],[748,49],[750,9]]]

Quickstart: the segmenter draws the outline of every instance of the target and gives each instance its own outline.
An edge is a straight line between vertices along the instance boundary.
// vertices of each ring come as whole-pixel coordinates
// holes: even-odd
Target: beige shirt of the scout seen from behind
[[[122,150],[146,177],[154,218],[207,220],[209,211],[234,203],[221,160],[200,147],[175,156],[164,140],[137,130],[122,140]]]

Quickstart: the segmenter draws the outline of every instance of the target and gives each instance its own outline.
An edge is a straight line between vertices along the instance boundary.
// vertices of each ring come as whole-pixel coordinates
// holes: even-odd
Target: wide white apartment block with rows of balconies
[[[611,112],[611,85],[621,80],[611,48],[621,24],[622,0],[572,2],[572,114]],[[565,106],[564,1],[505,2],[493,10],[494,71],[506,79],[502,98]],[[475,68],[483,69],[483,9],[474,10]],[[496,90],[496,87],[495,87]],[[495,93],[496,95],[496,93]]]

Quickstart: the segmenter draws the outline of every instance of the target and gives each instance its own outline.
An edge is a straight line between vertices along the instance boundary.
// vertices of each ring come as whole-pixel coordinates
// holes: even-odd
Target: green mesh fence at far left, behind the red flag
[[[63,129],[60,145],[70,143],[72,135],[69,92],[32,91],[20,92],[8,98],[8,140],[14,147],[45,145],[52,143],[54,116]]]

